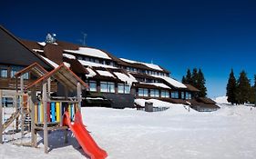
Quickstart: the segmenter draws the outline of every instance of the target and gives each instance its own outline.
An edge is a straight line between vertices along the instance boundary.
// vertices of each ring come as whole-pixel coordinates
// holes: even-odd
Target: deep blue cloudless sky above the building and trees
[[[17,37],[104,49],[161,65],[181,81],[201,68],[208,96],[225,95],[230,69],[256,74],[255,0],[1,1],[0,24]]]

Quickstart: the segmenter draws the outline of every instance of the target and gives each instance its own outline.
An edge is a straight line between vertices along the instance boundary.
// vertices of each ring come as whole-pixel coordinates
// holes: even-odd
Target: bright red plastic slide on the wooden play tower
[[[108,156],[107,152],[98,147],[97,143],[88,133],[79,111],[75,114],[74,123],[71,123],[68,112],[65,112],[63,116],[63,125],[69,126],[71,131],[75,134],[77,142],[82,146],[84,152],[90,156],[91,159],[104,159]]]

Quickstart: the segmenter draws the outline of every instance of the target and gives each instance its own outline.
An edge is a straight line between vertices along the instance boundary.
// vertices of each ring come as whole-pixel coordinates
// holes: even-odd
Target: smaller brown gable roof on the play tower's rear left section
[[[34,63],[32,65],[27,66],[26,68],[20,70],[15,74],[15,77],[18,77],[20,75],[24,75],[27,72],[31,72],[37,77],[41,77],[43,75],[46,75],[48,72],[43,68],[41,65],[38,65],[37,63]]]

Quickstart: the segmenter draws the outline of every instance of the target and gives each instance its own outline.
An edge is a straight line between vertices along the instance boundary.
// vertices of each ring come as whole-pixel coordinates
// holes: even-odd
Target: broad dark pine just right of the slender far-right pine
[[[238,87],[236,91],[236,99],[238,104],[249,102],[251,93],[250,80],[247,78],[245,71],[242,71],[238,79]]]

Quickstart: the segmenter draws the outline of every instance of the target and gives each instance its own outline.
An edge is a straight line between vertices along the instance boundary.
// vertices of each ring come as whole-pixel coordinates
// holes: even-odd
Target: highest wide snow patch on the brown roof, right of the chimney
[[[78,50],[64,50],[64,51],[68,53],[75,53],[78,55],[88,55],[88,56],[105,58],[105,59],[111,60],[111,58],[106,53],[95,48],[79,47]]]

